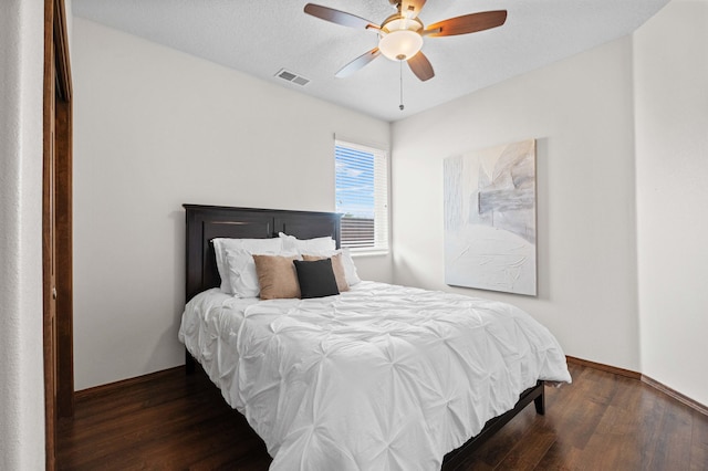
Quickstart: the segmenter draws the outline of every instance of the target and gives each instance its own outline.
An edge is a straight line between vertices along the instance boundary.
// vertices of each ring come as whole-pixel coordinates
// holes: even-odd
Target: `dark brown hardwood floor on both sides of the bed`
[[[708,470],[708,417],[636,379],[571,364],[465,462],[466,470]],[[246,420],[197,373],[150,375],[79,395],[59,426],[61,470],[266,470]]]

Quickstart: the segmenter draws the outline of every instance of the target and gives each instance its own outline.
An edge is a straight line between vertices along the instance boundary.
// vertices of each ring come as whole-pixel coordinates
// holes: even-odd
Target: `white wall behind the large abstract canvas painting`
[[[395,281],[511,302],[568,355],[638,370],[632,86],[625,38],[396,123]],[[538,297],[445,285],[444,159],[527,138],[538,146]]]

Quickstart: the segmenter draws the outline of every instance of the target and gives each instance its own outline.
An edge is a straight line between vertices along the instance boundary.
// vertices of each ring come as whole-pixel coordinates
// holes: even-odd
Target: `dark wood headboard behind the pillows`
[[[334,212],[183,205],[187,211],[187,285],[185,301],[219,286],[211,239],[268,239],[285,232],[298,239],[332,237],[340,247],[340,219]]]

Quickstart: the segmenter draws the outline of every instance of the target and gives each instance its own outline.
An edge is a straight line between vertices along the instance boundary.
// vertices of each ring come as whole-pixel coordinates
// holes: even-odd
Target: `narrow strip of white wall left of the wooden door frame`
[[[44,2],[0,14],[0,469],[44,469],[42,83]]]

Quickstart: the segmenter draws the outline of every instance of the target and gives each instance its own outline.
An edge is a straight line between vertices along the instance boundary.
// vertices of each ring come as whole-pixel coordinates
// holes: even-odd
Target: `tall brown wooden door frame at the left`
[[[72,80],[64,0],[44,0],[42,264],[45,462],[56,468],[56,422],[74,411]],[[53,238],[53,239],[52,239]]]

